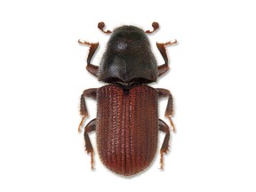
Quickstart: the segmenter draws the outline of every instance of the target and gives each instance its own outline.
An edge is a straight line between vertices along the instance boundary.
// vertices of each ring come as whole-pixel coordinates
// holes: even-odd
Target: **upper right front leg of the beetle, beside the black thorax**
[[[157,68],[158,76],[162,76],[169,69],[168,57],[167,57],[167,54],[166,54],[165,45],[172,45],[172,44],[177,44],[177,40],[175,39],[174,42],[167,42],[165,44],[156,43],[156,46],[157,46],[159,52],[161,53],[161,55],[164,58],[164,64],[158,66],[158,68]]]

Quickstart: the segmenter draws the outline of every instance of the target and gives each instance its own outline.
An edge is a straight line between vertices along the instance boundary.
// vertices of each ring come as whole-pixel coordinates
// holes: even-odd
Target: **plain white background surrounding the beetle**
[[[255,18],[249,0],[1,1],[0,191],[256,191]],[[110,30],[158,21],[149,38],[159,64],[156,41],[179,41],[167,48],[171,70],[151,84],[175,102],[164,171],[158,153],[130,179],[97,153],[90,169],[78,102],[102,83],[85,70],[88,47],[77,40],[100,42],[98,64],[109,37],[97,28],[102,20]],[[87,105],[92,119],[96,103]]]

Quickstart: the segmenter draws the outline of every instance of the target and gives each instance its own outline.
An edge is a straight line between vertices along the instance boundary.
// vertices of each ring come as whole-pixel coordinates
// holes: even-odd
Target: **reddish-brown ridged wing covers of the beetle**
[[[157,147],[157,92],[147,85],[127,92],[116,85],[97,92],[97,147],[108,169],[131,176],[152,162]]]

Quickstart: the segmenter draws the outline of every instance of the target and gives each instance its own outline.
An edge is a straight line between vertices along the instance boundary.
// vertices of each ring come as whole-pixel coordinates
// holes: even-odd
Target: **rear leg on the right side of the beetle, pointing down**
[[[170,140],[170,130],[169,126],[164,123],[163,120],[158,119],[158,126],[159,130],[162,132],[165,132],[165,137],[164,137],[164,142],[162,144],[162,147],[160,149],[160,169],[163,169],[163,164],[164,164],[164,153],[166,154],[169,148],[169,140]]]

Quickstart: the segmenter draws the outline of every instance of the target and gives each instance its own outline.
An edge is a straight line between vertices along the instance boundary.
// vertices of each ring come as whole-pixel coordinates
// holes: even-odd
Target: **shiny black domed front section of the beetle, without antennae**
[[[134,26],[116,28],[100,61],[99,80],[108,83],[150,83],[157,77],[156,58],[148,36]]]

